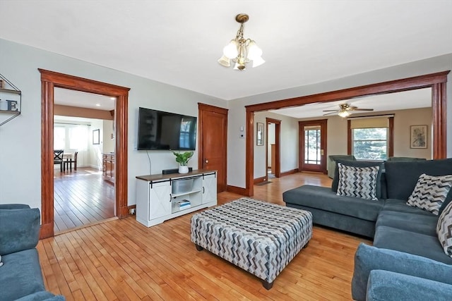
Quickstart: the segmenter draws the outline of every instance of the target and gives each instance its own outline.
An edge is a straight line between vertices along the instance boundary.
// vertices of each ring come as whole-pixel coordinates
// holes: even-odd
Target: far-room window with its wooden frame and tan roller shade
[[[393,155],[393,116],[350,118],[349,154],[361,160],[386,160]]]

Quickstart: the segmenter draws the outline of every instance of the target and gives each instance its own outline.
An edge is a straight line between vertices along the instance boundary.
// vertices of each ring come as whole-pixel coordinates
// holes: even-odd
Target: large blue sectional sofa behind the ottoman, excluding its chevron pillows
[[[304,185],[284,192],[283,199],[287,207],[311,211],[314,224],[373,238],[373,246],[359,245],[356,252],[352,297],[452,300],[452,258],[436,234],[439,215],[406,204],[422,173],[452,175],[452,159],[337,163],[379,166],[378,200],[336,195],[338,168],[332,188]],[[440,214],[451,200],[452,190]]]

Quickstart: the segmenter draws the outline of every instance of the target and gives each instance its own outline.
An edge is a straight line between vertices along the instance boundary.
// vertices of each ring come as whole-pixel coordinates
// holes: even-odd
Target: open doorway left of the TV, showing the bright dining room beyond
[[[54,88],[54,233],[116,216],[114,181],[104,156],[114,157],[116,97]],[[111,161],[111,160],[110,160]],[[111,169],[111,168],[109,168]]]

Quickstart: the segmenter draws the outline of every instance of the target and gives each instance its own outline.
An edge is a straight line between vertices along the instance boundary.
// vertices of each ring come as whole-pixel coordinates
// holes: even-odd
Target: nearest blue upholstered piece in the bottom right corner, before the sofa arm
[[[367,283],[367,301],[450,300],[452,285],[392,271],[373,270]]]

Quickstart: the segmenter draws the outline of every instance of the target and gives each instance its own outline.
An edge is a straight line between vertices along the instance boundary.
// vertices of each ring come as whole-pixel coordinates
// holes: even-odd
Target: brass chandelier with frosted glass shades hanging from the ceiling
[[[235,70],[245,70],[246,63],[250,61],[253,61],[253,68],[266,62],[262,59],[262,49],[256,45],[256,42],[243,37],[243,23],[248,19],[249,16],[246,13],[239,13],[235,16],[235,20],[240,23],[240,28],[235,39],[232,39],[223,49],[223,55],[218,60],[220,65],[230,67],[232,60],[235,63]]]

